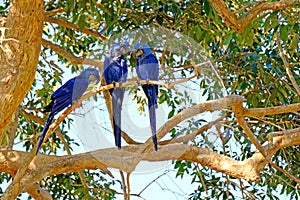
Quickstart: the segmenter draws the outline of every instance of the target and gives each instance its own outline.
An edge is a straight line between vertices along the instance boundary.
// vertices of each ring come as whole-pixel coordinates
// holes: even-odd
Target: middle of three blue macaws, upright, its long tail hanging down
[[[126,82],[128,67],[124,55],[130,52],[128,42],[114,43],[110,55],[104,61],[104,79],[107,84]],[[125,88],[118,87],[109,90],[112,97],[113,132],[115,145],[121,149],[121,110]]]

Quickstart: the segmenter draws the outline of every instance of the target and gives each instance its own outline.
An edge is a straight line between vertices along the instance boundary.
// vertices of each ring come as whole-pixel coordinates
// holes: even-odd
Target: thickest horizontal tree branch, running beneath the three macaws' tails
[[[297,142],[295,142],[297,141]],[[268,143],[263,147],[268,157],[271,157],[277,150],[300,144],[300,132],[295,129],[288,134],[274,138],[271,147]],[[29,171],[21,180],[24,187],[30,186],[45,176],[78,171],[82,169],[98,169],[113,167],[123,171],[130,169],[135,164],[135,152],[138,146],[125,146],[122,150],[116,148],[101,149],[93,152],[77,154],[73,156],[50,156],[39,154],[30,164]],[[0,153],[0,171],[15,173],[22,158],[28,152],[5,150]],[[220,155],[209,149],[197,148],[185,144],[169,144],[160,147],[158,152],[148,152],[143,155],[145,161],[164,160],[187,160],[208,166],[219,172],[243,178],[247,181],[258,181],[259,172],[267,163],[265,157],[256,152],[251,158],[244,161],[236,161],[230,157]]]

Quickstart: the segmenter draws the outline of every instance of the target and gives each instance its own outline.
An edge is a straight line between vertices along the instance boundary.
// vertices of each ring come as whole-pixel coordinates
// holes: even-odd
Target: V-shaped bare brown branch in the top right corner
[[[219,12],[219,15],[233,30],[242,33],[244,28],[257,16],[266,10],[281,10],[284,8],[291,8],[299,6],[295,0],[282,0],[277,2],[261,1],[255,3],[254,7],[249,9],[240,18],[232,12],[223,0],[210,0],[215,9]]]

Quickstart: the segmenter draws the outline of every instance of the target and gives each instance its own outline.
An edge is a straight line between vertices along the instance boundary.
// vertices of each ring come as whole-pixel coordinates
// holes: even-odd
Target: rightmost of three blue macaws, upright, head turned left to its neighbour
[[[134,51],[136,55],[136,72],[138,78],[141,80],[158,80],[158,61],[153,55],[149,45],[143,43],[137,43],[134,45]],[[152,140],[154,143],[154,149],[157,151],[157,138],[156,138],[156,114],[158,86],[157,85],[142,85],[144,93],[148,99],[150,126],[152,131]]]

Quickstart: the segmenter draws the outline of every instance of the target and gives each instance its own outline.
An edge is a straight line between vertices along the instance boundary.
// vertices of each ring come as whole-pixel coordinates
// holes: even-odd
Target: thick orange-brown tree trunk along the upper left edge
[[[0,139],[35,78],[43,31],[43,1],[12,1],[0,48]]]

